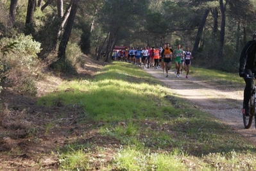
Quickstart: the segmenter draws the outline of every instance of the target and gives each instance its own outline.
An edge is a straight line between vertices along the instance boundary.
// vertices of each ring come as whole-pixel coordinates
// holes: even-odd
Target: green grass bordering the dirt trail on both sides
[[[192,70],[210,80],[203,77],[209,70]],[[82,110],[70,114],[79,133],[57,148],[60,170],[256,169],[253,145],[129,63],[107,65],[93,80],[69,81],[42,104]]]

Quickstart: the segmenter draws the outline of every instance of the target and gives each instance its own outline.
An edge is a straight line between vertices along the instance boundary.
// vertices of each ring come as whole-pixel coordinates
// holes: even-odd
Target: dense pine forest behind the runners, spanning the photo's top
[[[107,54],[109,61],[115,45],[169,42],[174,47],[179,42],[191,47],[202,65],[221,67],[237,61],[250,40],[255,10],[254,0],[4,0],[0,33],[2,38],[32,35],[42,46],[38,58],[43,60],[53,54],[65,60],[67,44],[79,45],[97,60]]]

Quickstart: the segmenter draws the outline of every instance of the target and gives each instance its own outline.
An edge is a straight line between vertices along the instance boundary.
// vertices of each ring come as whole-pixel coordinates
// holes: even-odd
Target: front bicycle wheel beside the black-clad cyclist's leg
[[[246,129],[249,129],[252,126],[252,119],[253,119],[253,116],[255,115],[255,96],[254,96],[254,94],[250,98],[249,108],[250,108],[250,116],[246,116],[243,114],[244,128],[246,128]],[[255,119],[255,121],[256,121],[256,119]]]

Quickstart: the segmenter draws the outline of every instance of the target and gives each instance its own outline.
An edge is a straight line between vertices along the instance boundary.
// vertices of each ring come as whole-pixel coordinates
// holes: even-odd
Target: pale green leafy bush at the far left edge
[[[31,35],[19,34],[13,38],[2,38],[0,45],[1,86],[19,87],[22,92],[35,95],[33,75],[39,71],[37,54],[41,50],[40,43],[33,40]],[[5,79],[9,85],[3,83]],[[25,82],[26,86],[23,86]]]

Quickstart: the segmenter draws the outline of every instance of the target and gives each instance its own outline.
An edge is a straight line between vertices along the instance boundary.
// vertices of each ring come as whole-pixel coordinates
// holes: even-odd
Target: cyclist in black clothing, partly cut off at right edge
[[[253,34],[253,40],[247,42],[241,52],[239,59],[239,76],[244,77],[246,86],[244,88],[244,100],[243,100],[243,114],[250,115],[249,101],[251,97],[251,91],[253,90],[253,79],[246,77],[246,75],[256,75],[256,31]]]

